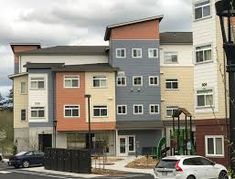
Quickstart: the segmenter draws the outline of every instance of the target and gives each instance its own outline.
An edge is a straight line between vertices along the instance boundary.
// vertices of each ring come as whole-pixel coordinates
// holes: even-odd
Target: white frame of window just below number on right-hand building
[[[199,91],[205,91],[204,93],[200,93],[198,94]],[[207,93],[206,91],[211,91],[209,93]],[[211,95],[212,96],[212,104],[209,104],[207,105],[207,102],[206,102],[206,96],[209,96]],[[204,96],[204,106],[199,106],[198,105],[198,96]],[[211,108],[211,107],[214,107],[214,90],[212,88],[208,88],[208,89],[198,89],[196,91],[196,108],[200,109],[200,108]]]

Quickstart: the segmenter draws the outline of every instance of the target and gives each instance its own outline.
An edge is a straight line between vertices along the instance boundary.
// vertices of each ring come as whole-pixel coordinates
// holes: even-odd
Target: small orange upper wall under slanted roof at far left
[[[14,53],[14,73],[20,73],[19,71],[19,55],[17,53],[29,51],[29,50],[35,50],[38,49],[38,45],[12,45],[12,51]]]

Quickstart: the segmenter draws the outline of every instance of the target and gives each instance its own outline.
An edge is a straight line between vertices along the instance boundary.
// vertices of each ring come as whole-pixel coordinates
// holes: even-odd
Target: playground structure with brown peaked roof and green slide
[[[184,115],[184,120],[180,119],[181,114]],[[185,108],[178,108],[174,111],[172,130],[170,130],[170,146],[166,146],[166,140],[166,137],[162,137],[158,142],[156,151],[158,159],[166,156],[168,150],[171,155],[193,155],[196,153],[192,132],[192,115]]]

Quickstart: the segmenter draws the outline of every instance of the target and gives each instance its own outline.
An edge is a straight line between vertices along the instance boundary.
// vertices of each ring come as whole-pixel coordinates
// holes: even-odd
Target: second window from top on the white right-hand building
[[[212,61],[211,45],[196,47],[196,63]]]

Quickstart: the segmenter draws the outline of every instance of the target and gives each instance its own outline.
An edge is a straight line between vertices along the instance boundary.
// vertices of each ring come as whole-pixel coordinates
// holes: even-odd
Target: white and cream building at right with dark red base
[[[198,154],[228,165],[228,88],[215,0],[193,1],[196,141]]]

